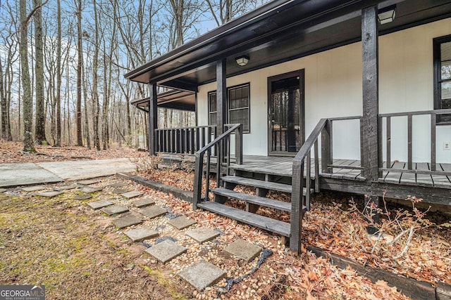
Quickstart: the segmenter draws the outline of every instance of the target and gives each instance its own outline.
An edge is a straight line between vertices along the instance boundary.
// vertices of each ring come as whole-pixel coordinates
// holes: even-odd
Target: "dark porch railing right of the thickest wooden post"
[[[397,112],[397,113],[389,113],[389,114],[380,114],[379,115],[379,172],[382,174],[383,171],[402,171],[402,173],[409,174],[427,174],[427,175],[445,175],[450,176],[451,171],[445,171],[440,168],[437,168],[437,144],[436,144],[436,131],[437,131],[437,120],[439,115],[451,114],[451,109],[448,110],[425,110],[419,112]],[[416,169],[414,168],[413,162],[413,124],[414,124],[414,116],[429,116],[430,124],[431,124],[431,134],[430,138],[430,166],[428,169]],[[400,130],[399,126],[396,129],[392,128],[392,118],[393,117],[405,117],[407,118],[407,169],[396,167],[395,164],[392,165],[392,149],[391,149],[391,137],[392,133],[395,130]],[[385,119],[385,165],[383,163],[382,154],[383,154],[383,120]],[[427,141],[421,141],[426,142]]]

